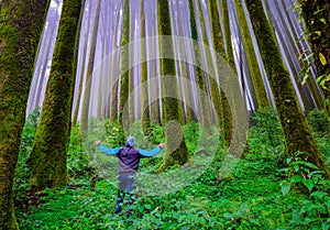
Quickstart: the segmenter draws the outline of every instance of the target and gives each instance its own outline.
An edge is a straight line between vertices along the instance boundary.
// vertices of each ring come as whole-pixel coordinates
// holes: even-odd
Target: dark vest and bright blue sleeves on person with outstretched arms
[[[119,174],[134,174],[139,169],[140,158],[155,156],[161,152],[161,147],[157,146],[153,150],[140,150],[136,147],[106,147],[103,145],[98,146],[100,151],[108,155],[116,155],[118,157]]]

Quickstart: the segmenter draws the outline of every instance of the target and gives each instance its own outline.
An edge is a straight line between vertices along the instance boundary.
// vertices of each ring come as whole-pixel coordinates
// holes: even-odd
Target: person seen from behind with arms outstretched
[[[96,141],[95,145],[98,146],[100,151],[108,155],[116,155],[118,157],[118,168],[119,168],[119,190],[118,199],[116,206],[116,213],[121,211],[121,205],[123,202],[125,193],[130,196],[131,202],[134,201],[132,191],[136,188],[135,186],[135,173],[139,169],[140,158],[151,157],[157,155],[165,144],[161,143],[157,147],[153,150],[140,150],[134,147],[135,141],[133,136],[129,136],[123,147],[106,147],[101,145],[100,141]]]

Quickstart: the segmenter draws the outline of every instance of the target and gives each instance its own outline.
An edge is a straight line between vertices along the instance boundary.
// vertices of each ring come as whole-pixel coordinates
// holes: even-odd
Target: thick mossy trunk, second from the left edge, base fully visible
[[[69,141],[75,44],[81,10],[80,0],[63,2],[57,42],[41,120],[30,156],[31,185],[36,189],[67,183],[66,153]]]

